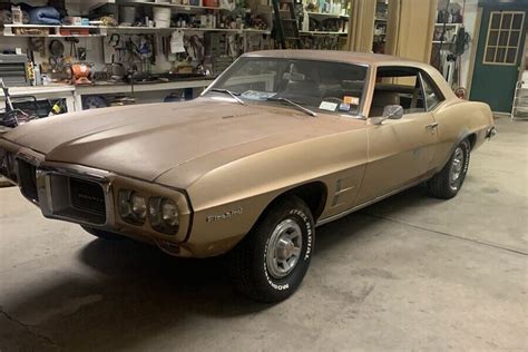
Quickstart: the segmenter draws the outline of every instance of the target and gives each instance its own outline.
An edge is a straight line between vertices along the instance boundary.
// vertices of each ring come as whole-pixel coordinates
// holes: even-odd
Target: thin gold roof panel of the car
[[[419,61],[408,60],[390,55],[355,52],[355,51],[336,51],[336,50],[265,50],[245,53],[244,57],[267,57],[284,59],[305,59],[321,61],[339,61],[369,66],[408,66],[426,68]]]

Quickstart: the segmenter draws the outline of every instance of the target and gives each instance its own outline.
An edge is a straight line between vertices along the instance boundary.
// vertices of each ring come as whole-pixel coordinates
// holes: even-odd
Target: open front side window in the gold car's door
[[[380,67],[377,71],[370,117],[383,115],[388,105],[400,105],[404,114],[426,111],[420,74],[409,67]]]

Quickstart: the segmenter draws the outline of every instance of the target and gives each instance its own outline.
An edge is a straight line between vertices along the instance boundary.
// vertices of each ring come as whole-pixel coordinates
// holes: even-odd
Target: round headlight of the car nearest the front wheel
[[[162,233],[174,235],[179,227],[179,211],[176,202],[164,197],[150,198],[148,206],[150,226]]]

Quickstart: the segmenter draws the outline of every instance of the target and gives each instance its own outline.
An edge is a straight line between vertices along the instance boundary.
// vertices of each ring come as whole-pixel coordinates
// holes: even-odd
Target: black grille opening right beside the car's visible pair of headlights
[[[69,179],[71,206],[78,211],[97,215],[106,214],[102,187],[94,182],[78,178]]]

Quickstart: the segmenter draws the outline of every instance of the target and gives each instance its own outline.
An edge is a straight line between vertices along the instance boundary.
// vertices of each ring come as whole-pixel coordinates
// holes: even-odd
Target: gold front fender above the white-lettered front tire
[[[276,197],[300,185],[320,182],[329,198],[336,192],[335,178],[348,177],[359,185],[366,163],[365,138],[364,130],[358,130],[303,140],[207,173],[187,188],[195,213],[186,246],[197,256],[227,252]],[[355,193],[348,196],[352,202]],[[348,204],[330,212],[342,211],[340,206]]]

